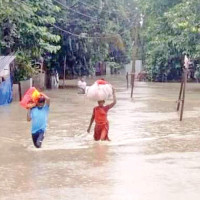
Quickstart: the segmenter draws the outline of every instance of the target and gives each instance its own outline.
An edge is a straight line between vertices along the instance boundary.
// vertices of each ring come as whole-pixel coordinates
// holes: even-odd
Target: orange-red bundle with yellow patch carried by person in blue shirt
[[[31,87],[23,96],[22,100],[20,101],[20,105],[26,109],[32,108],[37,104],[40,96],[40,92],[35,87]]]

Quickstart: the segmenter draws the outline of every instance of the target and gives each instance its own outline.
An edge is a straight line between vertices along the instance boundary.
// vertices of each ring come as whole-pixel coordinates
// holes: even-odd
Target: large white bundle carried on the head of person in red
[[[110,84],[98,84],[95,82],[86,90],[86,96],[94,101],[107,100],[112,96],[112,86]]]

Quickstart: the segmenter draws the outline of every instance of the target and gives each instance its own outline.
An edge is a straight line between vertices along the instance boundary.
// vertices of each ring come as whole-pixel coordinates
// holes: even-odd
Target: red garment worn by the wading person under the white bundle
[[[97,106],[94,108],[93,115],[94,120],[96,122],[94,128],[94,139],[100,140],[101,134],[105,131],[105,137],[103,140],[109,140],[108,138],[108,130],[109,130],[109,123],[107,120],[107,112],[110,109],[109,106]]]

